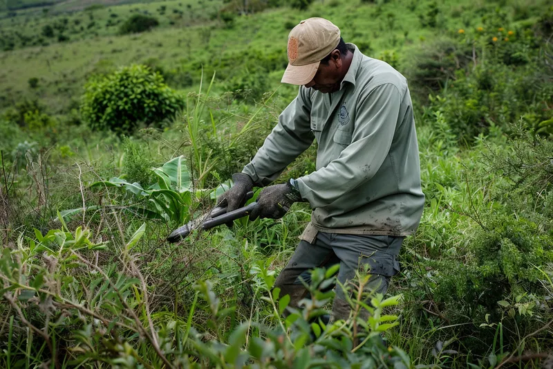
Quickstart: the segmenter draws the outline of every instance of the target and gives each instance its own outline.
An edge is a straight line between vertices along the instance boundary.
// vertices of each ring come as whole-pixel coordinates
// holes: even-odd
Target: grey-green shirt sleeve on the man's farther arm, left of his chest
[[[283,110],[279,123],[242,172],[257,186],[267,186],[277,179],[313,142],[315,136],[311,132],[310,117],[310,94],[305,87],[300,87],[298,96]]]

